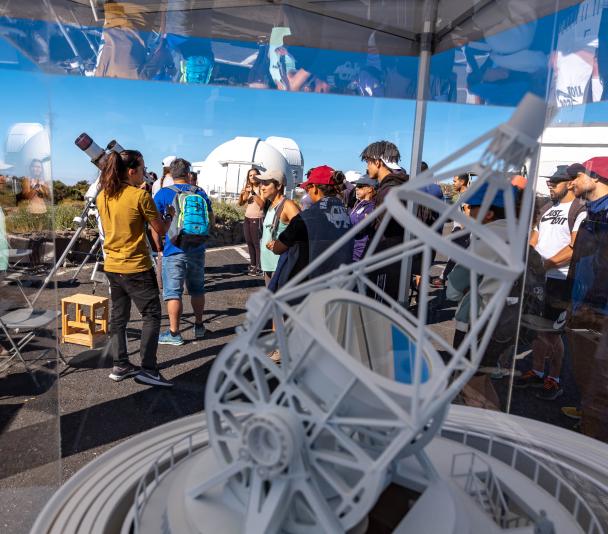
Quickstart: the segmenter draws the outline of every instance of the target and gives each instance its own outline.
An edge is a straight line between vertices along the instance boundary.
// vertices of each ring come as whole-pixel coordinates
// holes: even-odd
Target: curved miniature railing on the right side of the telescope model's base
[[[549,493],[552,497],[566,509],[575,519],[585,534],[605,534],[605,530],[599,522],[596,514],[593,512],[587,501],[574,489],[574,487],[560,477],[554,470],[550,469],[546,462],[538,460],[535,456],[538,454],[524,446],[499,438],[494,435],[487,435],[481,432],[471,430],[463,430],[458,427],[444,425],[441,431],[442,437],[457,441],[469,447],[473,447],[478,451],[491,456],[492,458],[510,465],[513,469],[524,475],[529,480],[540,486],[543,490]],[[498,451],[502,448],[502,451]],[[505,451],[509,457],[505,456]],[[540,454],[539,454],[540,455]],[[559,460],[551,460],[555,464],[560,465],[564,469],[571,471],[585,478],[586,481],[593,484],[598,490],[606,494],[606,488],[598,481],[585,475],[583,472],[567,465]],[[529,468],[524,469],[527,465]],[[554,479],[555,484],[543,483],[541,480],[541,469],[545,472],[545,477],[550,480]],[[566,495],[571,495],[571,507],[564,502],[567,500]],[[563,500],[562,500],[563,497]]]

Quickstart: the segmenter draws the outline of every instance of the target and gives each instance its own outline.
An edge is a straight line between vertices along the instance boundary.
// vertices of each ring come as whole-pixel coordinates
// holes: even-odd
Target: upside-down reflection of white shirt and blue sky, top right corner
[[[441,34],[431,61],[431,99],[514,106],[532,92],[571,109],[607,98],[608,8],[602,2],[586,0],[540,18],[536,6],[523,2],[494,7],[491,15],[474,12],[470,27]]]

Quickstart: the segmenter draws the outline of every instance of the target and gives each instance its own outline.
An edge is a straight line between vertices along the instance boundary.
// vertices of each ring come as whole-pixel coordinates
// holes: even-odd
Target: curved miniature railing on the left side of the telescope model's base
[[[196,443],[195,440],[195,437],[198,437],[199,434],[206,431],[207,425],[201,421],[201,426],[199,429],[187,434],[160,453],[152,465],[150,465],[146,473],[139,479],[137,489],[135,490],[135,497],[133,499],[133,520],[135,534],[141,532],[141,515],[146,503],[148,502],[148,499],[150,498],[152,490],[158,487],[160,482],[168,474],[173,472],[175,468],[184,460],[187,460],[195,452],[209,444],[207,439],[202,440],[200,443]]]

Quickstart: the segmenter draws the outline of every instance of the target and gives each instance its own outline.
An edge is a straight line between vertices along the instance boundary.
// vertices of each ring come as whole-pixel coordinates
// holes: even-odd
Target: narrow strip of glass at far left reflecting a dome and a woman
[[[48,95],[0,71],[0,468],[4,528],[25,532],[61,483]],[[10,104],[9,104],[10,103]],[[32,507],[15,514],[24,502]]]

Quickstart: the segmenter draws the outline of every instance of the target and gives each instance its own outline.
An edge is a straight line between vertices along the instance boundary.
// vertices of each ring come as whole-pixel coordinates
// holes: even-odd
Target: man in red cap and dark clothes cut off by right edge
[[[608,157],[568,167],[574,194],[587,201],[572,252],[568,281],[572,288],[568,342],[581,391],[581,411],[562,412],[581,418],[581,430],[608,441]]]

